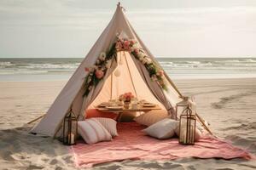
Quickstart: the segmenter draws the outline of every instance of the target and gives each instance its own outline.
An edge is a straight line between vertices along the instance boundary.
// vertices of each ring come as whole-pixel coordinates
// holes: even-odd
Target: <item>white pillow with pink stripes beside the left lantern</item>
[[[78,131],[87,144],[112,140],[111,134],[96,119],[87,119],[78,122]]]

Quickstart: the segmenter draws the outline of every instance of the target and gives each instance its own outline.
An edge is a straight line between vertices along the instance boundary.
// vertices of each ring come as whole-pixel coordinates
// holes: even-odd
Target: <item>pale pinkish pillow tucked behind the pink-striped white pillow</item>
[[[91,119],[96,119],[98,122],[102,123],[102,126],[105,127],[108,130],[108,133],[110,133],[112,136],[118,136],[119,134],[117,133],[116,130],[116,121],[110,118],[105,118],[105,117],[94,117]]]

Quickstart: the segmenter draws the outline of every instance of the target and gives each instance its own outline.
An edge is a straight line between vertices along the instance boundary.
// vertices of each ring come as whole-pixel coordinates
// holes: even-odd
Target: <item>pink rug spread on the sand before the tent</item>
[[[195,145],[178,144],[177,139],[159,140],[146,136],[144,127],[136,122],[118,124],[119,136],[110,142],[85,144],[80,141],[72,147],[76,166],[92,167],[108,161],[172,160],[183,157],[197,158],[245,158],[251,156],[227,142],[205,136]]]

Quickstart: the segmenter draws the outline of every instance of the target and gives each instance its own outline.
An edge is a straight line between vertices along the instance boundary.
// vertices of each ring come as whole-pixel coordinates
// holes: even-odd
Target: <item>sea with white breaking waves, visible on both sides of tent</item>
[[[256,77],[256,58],[157,58],[172,79]],[[82,58],[0,58],[0,82],[66,81]]]

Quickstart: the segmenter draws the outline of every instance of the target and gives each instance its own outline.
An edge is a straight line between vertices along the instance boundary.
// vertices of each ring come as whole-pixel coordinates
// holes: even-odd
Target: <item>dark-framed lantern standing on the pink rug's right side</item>
[[[179,144],[195,144],[196,117],[193,115],[191,105],[187,105],[180,115],[179,120]]]

